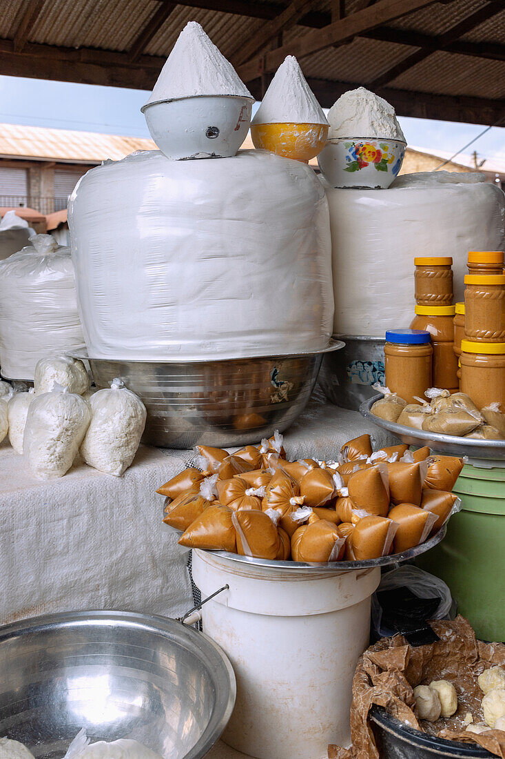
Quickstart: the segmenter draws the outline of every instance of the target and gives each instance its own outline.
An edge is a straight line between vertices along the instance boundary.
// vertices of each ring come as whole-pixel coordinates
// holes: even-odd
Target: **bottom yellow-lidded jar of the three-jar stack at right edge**
[[[505,342],[461,343],[461,391],[478,408],[499,403],[505,408]]]

